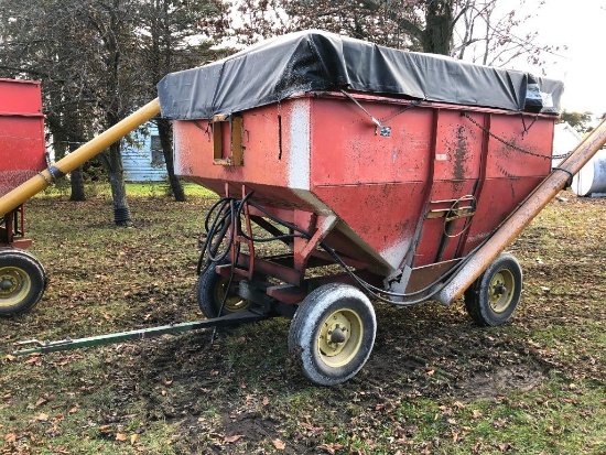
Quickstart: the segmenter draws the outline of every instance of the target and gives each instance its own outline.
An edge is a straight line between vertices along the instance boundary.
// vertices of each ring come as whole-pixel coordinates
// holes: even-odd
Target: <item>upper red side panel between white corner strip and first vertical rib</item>
[[[432,109],[386,102],[360,102],[386,122],[390,137],[377,134],[377,126],[347,98],[318,98],[312,110],[312,185],[372,185],[424,182],[430,172],[433,143]],[[396,100],[393,100],[396,101]]]

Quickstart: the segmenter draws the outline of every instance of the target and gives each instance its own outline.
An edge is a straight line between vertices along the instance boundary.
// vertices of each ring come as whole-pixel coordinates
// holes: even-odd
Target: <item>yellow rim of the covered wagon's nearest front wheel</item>
[[[329,367],[347,365],[361,346],[364,325],[353,310],[338,310],[322,323],[317,335],[320,358]]]

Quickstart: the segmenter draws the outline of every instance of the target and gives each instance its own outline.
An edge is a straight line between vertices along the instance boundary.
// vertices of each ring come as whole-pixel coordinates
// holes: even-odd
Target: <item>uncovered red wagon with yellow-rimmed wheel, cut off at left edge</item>
[[[0,197],[46,169],[41,84],[0,79]],[[0,217],[0,316],[33,307],[46,288],[42,264],[24,251],[23,205]]]

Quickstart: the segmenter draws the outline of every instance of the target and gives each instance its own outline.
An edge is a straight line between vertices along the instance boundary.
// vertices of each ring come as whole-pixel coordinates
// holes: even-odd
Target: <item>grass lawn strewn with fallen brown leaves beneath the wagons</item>
[[[197,243],[215,196],[129,185],[26,205],[50,285],[0,319],[0,454],[605,454],[606,199],[562,193],[509,249],[524,290],[512,321],[463,304],[377,304],[365,368],[333,388],[289,359],[289,322],[13,357],[13,344],[201,317]]]

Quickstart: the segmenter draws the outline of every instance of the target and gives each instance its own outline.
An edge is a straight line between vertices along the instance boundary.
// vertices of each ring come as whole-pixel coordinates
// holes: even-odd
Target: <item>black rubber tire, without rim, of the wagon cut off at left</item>
[[[30,289],[19,302],[12,304],[8,303],[8,296],[0,293],[0,317],[17,316],[32,310],[42,299],[48,284],[46,272],[40,261],[23,250],[17,248],[0,250],[0,281],[3,272],[8,273],[10,269],[13,269],[13,272],[14,269],[19,269],[29,281]]]

